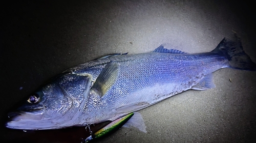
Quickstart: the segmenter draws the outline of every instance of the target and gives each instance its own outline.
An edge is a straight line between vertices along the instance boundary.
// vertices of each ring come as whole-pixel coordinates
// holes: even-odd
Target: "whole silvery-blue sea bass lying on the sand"
[[[162,45],[152,52],[114,54],[78,65],[32,93],[9,113],[7,128],[59,129],[115,121],[186,90],[215,88],[221,68],[255,71],[239,39],[223,39],[207,53]]]

